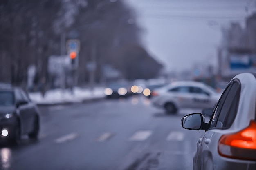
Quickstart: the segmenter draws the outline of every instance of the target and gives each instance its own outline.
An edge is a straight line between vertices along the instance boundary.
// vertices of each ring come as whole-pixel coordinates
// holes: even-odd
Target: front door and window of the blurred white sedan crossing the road
[[[193,107],[194,108],[212,108],[213,103],[211,95],[200,87],[191,86],[190,93],[193,95]]]

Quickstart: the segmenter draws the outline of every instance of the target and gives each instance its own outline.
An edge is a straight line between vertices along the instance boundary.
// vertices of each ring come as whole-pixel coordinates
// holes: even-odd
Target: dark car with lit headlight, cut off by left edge
[[[0,141],[17,144],[22,135],[37,139],[37,106],[21,88],[0,86]]]

